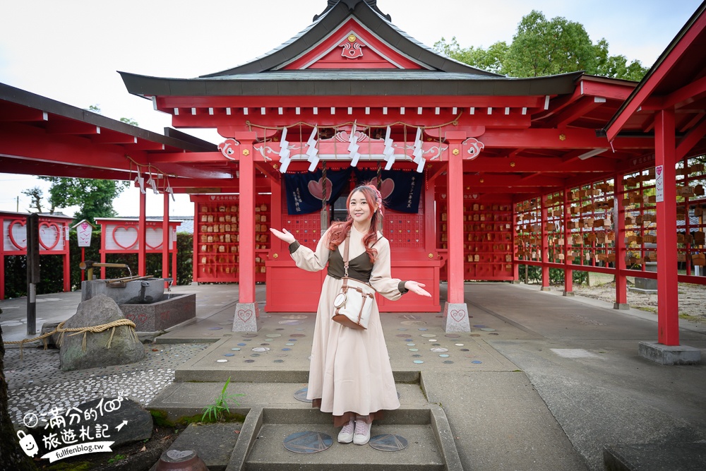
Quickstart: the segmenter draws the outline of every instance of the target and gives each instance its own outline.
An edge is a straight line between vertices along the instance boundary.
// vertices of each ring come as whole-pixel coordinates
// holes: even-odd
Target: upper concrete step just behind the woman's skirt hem
[[[389,421],[414,421],[414,411],[426,411],[428,414],[429,403],[419,384],[398,383],[396,386],[401,407],[399,410],[388,412]],[[280,411],[282,414],[280,420],[284,420],[284,417],[294,417],[287,420],[290,421],[289,423],[296,423],[297,420],[306,417],[297,415],[301,411],[313,411],[318,414],[318,411],[311,407],[311,403],[294,398],[294,393],[305,387],[306,383],[229,383],[228,394],[243,394],[237,398],[239,405],[231,402],[229,407],[231,412],[240,415],[246,415],[253,407],[269,407]],[[204,407],[213,404],[222,388],[223,383],[172,383],[164,388],[147,407],[150,410],[160,411],[172,421],[181,417],[192,417],[203,413]],[[396,417],[400,415],[408,418],[397,419]],[[306,420],[311,418],[306,417]],[[330,417],[326,420],[330,421]],[[419,421],[419,419],[416,420]]]

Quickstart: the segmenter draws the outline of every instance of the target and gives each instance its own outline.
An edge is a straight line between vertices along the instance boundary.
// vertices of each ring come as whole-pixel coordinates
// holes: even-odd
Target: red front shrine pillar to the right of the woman
[[[454,139],[457,136],[457,139]],[[453,136],[452,136],[453,135]],[[449,141],[447,192],[448,211],[448,302],[460,304],[463,301],[463,160],[461,143],[463,132],[448,132]],[[458,152],[455,152],[455,151]]]

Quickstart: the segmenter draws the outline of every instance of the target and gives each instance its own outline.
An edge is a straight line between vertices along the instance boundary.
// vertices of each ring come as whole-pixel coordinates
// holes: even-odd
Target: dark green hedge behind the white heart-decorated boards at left
[[[81,250],[78,247],[76,231],[68,234],[69,270],[71,272],[71,290],[80,289],[81,270],[78,264],[81,261]],[[91,246],[85,248],[85,259],[100,261],[100,231],[94,231],[91,236]],[[137,275],[138,254],[107,254],[107,263],[126,263],[130,266],[133,275]],[[193,236],[186,232],[177,233],[177,285],[189,285],[193,278]],[[171,256],[169,270],[171,271]],[[96,269],[95,275],[100,276]],[[147,254],[147,274],[162,276],[162,254]],[[109,278],[127,276],[127,270],[120,268],[107,268]],[[40,256],[41,282],[37,283],[37,294],[56,293],[64,290],[64,263],[61,255]],[[5,297],[13,298],[27,294],[27,263],[24,255],[5,257]]]

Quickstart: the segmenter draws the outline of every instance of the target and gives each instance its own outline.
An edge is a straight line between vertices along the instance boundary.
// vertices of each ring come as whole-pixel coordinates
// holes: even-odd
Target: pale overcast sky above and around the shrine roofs
[[[222,71],[277,47],[311,23],[326,0],[23,0],[6,1],[0,16],[0,82],[76,107],[99,105],[104,116],[135,119],[162,133],[169,116],[129,95],[116,71],[190,78]],[[455,36],[463,47],[512,42],[532,9],[585,26],[611,54],[652,66],[700,0],[379,0],[378,8],[417,40],[432,46]],[[219,142],[214,131],[191,132]],[[0,169],[8,172],[9,169]],[[23,189],[49,187],[26,175],[0,173],[0,210],[28,210]],[[149,216],[162,215],[162,196],[148,193]],[[114,204],[137,215],[138,190]],[[170,215],[192,215],[177,196]],[[73,209],[64,213],[73,215]]]

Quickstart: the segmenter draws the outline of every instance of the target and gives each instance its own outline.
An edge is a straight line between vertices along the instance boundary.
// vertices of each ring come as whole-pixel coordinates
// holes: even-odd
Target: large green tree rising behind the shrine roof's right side
[[[558,16],[547,20],[533,10],[517,25],[513,42],[496,42],[488,49],[462,48],[453,37],[434,44],[438,52],[457,61],[512,77],[539,77],[585,71],[591,75],[640,81],[647,68],[640,61],[628,64],[625,56],[611,56],[608,42],[595,44],[583,25]]]

